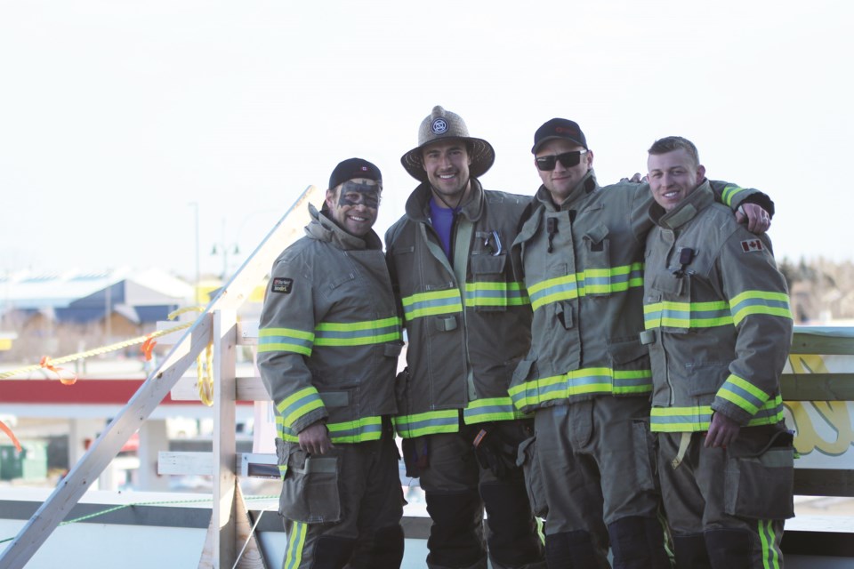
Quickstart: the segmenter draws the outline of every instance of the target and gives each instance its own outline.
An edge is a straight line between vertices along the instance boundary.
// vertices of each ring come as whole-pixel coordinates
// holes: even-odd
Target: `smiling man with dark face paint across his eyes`
[[[372,229],[382,191],[374,164],[338,164],[264,299],[258,367],[278,410],[284,566],[294,569],[397,569],[403,558],[391,425],[403,342]]]

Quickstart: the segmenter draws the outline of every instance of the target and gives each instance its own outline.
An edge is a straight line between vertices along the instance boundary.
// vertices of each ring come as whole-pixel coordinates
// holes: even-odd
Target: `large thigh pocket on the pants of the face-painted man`
[[[279,513],[289,520],[305,524],[340,521],[339,457],[311,456],[294,443],[282,446],[287,470],[278,501]]]

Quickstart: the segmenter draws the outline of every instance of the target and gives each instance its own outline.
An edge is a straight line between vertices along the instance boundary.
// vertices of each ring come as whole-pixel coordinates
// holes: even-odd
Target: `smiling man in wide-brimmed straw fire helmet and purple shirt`
[[[495,151],[433,108],[401,157],[419,181],[385,236],[407,327],[398,433],[432,518],[431,569],[540,569],[543,547],[516,450],[528,437],[507,387],[528,349],[531,309],[507,245],[530,201],[484,189]]]

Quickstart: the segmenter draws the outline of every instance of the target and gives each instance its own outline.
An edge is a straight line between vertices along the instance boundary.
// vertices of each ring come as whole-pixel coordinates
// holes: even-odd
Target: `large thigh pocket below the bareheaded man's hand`
[[[762,453],[729,456],[725,471],[724,511],[748,519],[794,517],[794,447],[781,431]]]

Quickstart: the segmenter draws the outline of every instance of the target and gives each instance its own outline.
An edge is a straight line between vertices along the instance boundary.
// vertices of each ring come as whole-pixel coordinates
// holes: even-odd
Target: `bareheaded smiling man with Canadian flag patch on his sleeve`
[[[767,236],[714,203],[697,148],[649,148],[656,227],[646,331],[659,477],[677,567],[782,567],[794,448],[779,377],[792,339],[786,281]]]

